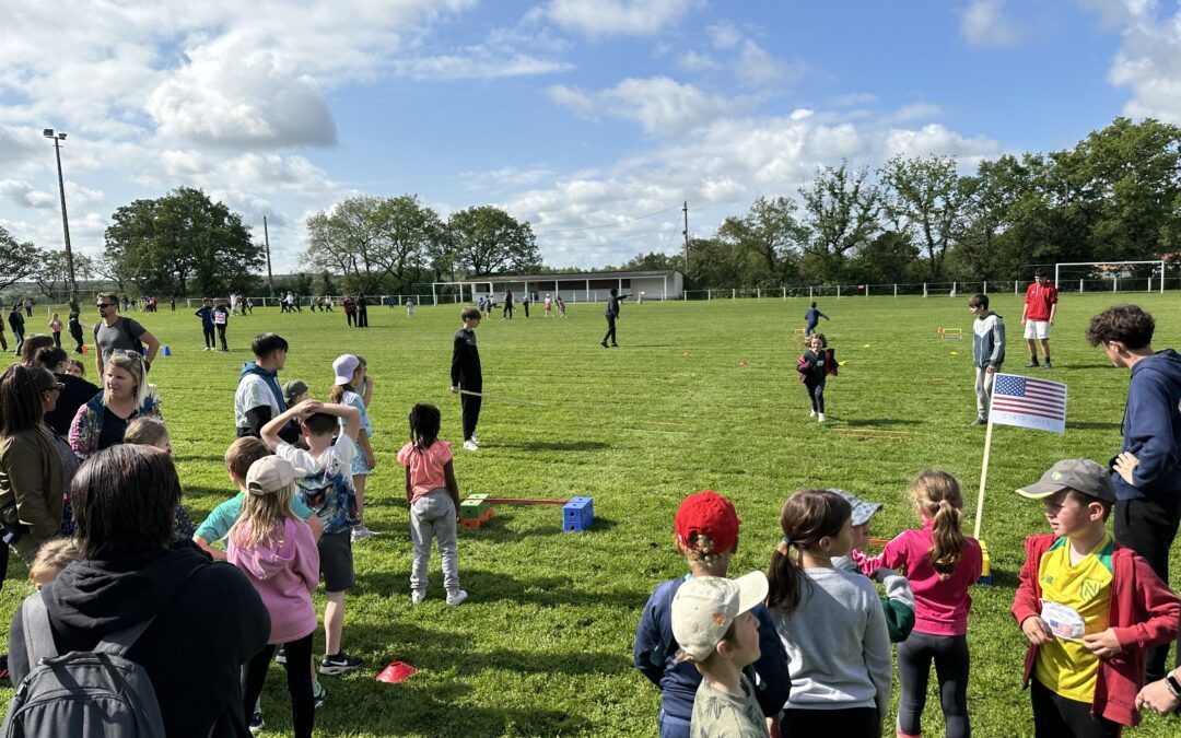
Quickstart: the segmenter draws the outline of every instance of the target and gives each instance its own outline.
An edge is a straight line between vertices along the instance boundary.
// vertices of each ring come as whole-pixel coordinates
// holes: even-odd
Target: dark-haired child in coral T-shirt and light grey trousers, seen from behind
[[[451,444],[439,440],[438,407],[419,403],[410,410],[410,443],[398,451],[398,463],[406,468],[410,540],[415,546],[410,600],[417,605],[426,599],[426,564],[431,557],[431,538],[437,536],[446,603],[463,605],[468,593],[459,589],[456,553],[459,485],[451,465]]]

